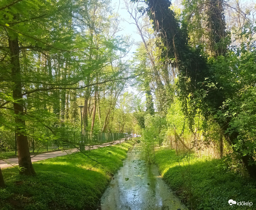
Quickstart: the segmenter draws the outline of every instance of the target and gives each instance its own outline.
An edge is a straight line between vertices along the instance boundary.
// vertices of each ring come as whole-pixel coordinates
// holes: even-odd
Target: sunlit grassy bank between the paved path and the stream
[[[78,152],[34,162],[34,177],[3,169],[6,188],[0,189],[0,209],[95,209],[132,144],[86,151],[94,161]]]

